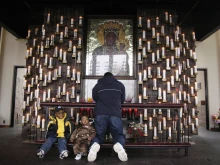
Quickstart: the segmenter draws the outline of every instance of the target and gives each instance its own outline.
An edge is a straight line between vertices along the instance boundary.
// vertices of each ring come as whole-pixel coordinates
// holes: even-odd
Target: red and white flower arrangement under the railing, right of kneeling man
[[[138,139],[144,136],[144,126],[141,123],[132,122],[128,125],[127,133],[132,139]]]

